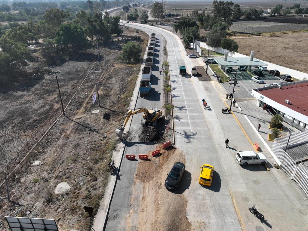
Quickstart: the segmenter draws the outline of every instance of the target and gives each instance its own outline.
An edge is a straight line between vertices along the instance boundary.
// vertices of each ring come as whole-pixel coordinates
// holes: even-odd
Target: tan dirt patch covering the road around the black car
[[[161,155],[151,156],[151,161],[140,161],[135,174],[137,184],[143,184],[142,203],[139,211],[134,211],[138,213],[138,227],[140,230],[191,230],[186,217],[187,200],[182,194],[185,189],[171,192],[164,187],[166,173],[173,164],[177,161],[185,163],[183,153],[176,148],[164,150],[162,145],[157,148]]]

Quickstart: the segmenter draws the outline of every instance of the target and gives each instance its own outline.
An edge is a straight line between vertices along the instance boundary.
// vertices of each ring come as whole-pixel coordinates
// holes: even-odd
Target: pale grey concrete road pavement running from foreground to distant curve
[[[230,103],[225,99],[225,89],[214,81],[201,83],[189,74],[179,75],[179,66],[186,66],[189,73],[189,69],[196,65],[186,56],[177,36],[147,25],[129,23],[129,26],[144,30],[148,34],[156,33],[160,42],[162,36],[166,39],[172,101],[175,106],[173,113],[176,147],[183,151],[186,170],[192,176],[191,184],[184,192],[188,200],[186,216],[192,229],[307,230],[306,197],[284,172],[277,169],[267,172],[266,168],[260,165],[244,168],[236,162],[236,152],[254,151],[251,140],[257,138],[251,129],[246,132],[243,127],[249,127],[246,124],[241,126],[233,114],[221,113],[225,102]],[[159,92],[158,89],[157,91]],[[201,106],[203,98],[208,103],[206,110]],[[138,99],[137,105],[161,107],[162,99]],[[132,120],[132,131],[137,131],[140,127],[137,116]],[[224,144],[226,138],[230,140],[228,148]],[[265,147],[260,147],[267,156]],[[144,153],[152,150],[151,148],[148,145],[132,143],[127,148],[127,154]],[[123,176],[115,189],[106,230],[141,229],[137,226],[138,214],[129,216],[133,210],[140,207],[140,200],[131,201],[136,163],[123,162]],[[202,164],[214,166],[215,174],[211,187],[201,187],[198,184]],[[249,212],[248,207],[253,204],[257,205],[258,211],[264,214],[267,221],[261,223]]]

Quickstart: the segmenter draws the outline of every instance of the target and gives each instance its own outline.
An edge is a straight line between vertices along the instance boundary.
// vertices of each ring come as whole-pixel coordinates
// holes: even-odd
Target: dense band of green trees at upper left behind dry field
[[[80,51],[91,44],[91,39],[107,42],[112,34],[121,33],[120,17],[110,17],[107,12],[103,18],[101,13],[82,10],[76,14],[74,20],[64,23],[68,17],[70,15],[66,10],[50,9],[39,22],[30,20],[21,25],[9,24],[0,37],[2,83],[26,65],[26,60],[33,59],[27,47],[31,43],[38,43],[41,38],[44,39],[43,58],[54,64],[55,57],[66,52]]]

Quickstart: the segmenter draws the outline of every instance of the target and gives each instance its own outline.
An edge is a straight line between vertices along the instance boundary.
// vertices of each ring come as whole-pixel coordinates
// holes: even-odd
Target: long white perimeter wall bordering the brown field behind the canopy
[[[237,53],[237,52],[229,52],[228,50],[223,49],[221,47],[209,47],[208,45],[206,45],[206,43],[200,42],[198,40],[196,40],[196,43],[199,47],[203,47],[205,49],[210,49],[210,50],[215,51],[217,53],[225,54],[225,51],[227,51],[229,53],[229,56],[234,57],[234,58],[249,57],[247,55],[243,55],[243,54],[240,54],[240,53]],[[261,60],[261,61],[267,64],[268,70],[276,69],[276,70],[280,71],[280,74],[289,74],[292,77],[299,79],[299,80],[303,80],[304,78],[308,79],[307,73],[304,73],[304,72],[301,72],[301,71],[296,71],[296,70],[293,70],[293,69],[290,69],[290,68],[287,68],[287,67],[282,67],[282,66],[276,65],[274,63],[269,63],[269,62],[266,62],[266,61],[263,61],[263,60]],[[306,62],[306,60],[303,60],[303,62]]]

